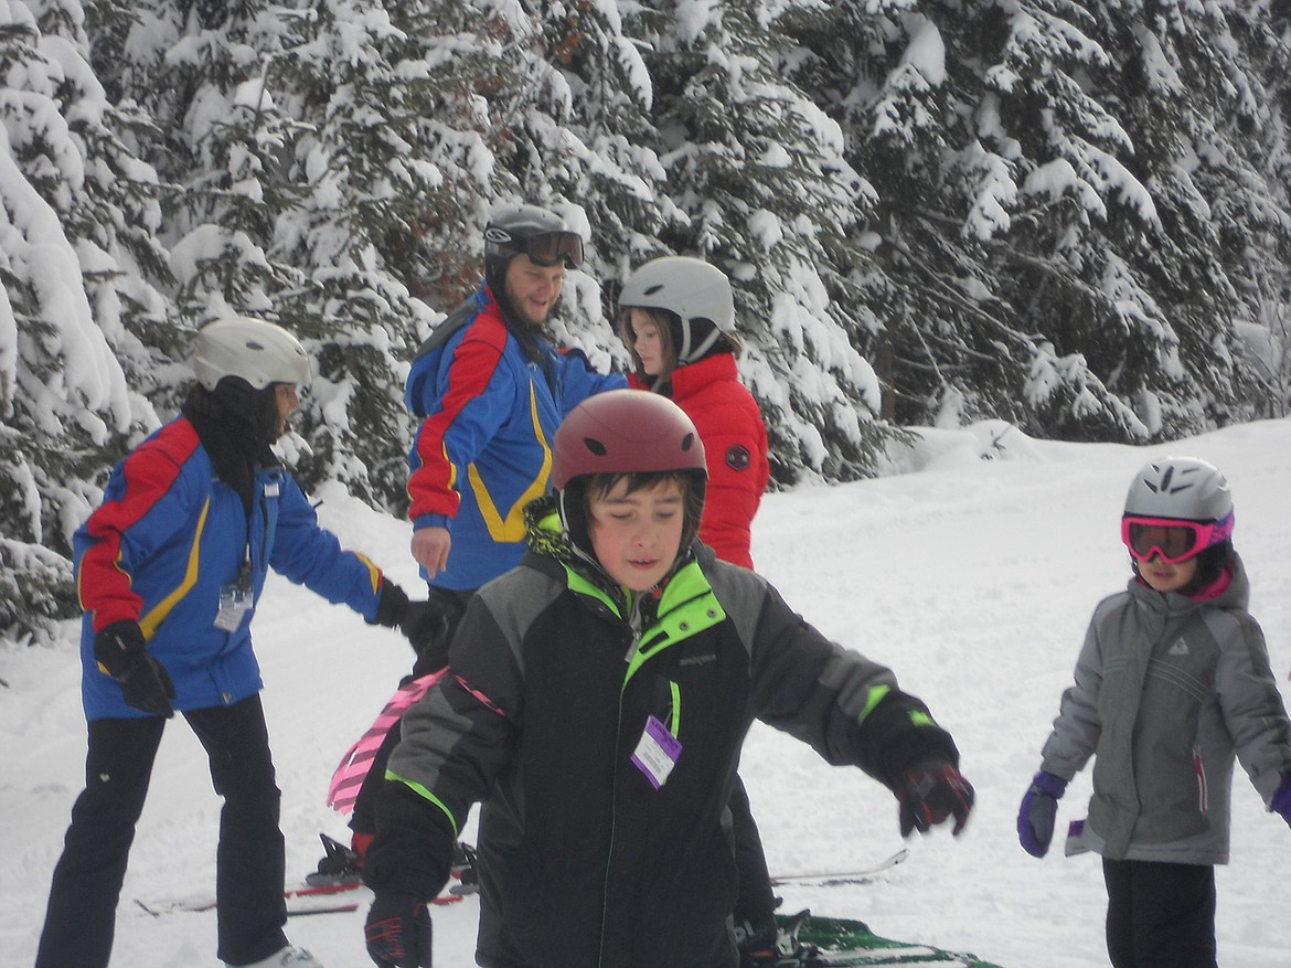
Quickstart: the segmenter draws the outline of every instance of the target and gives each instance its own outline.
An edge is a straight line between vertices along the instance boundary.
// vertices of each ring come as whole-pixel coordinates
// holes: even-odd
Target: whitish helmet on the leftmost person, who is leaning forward
[[[217,319],[199,329],[192,370],[212,391],[225,377],[240,377],[253,390],[270,383],[309,386],[312,379],[301,342],[281,327],[252,316]]]

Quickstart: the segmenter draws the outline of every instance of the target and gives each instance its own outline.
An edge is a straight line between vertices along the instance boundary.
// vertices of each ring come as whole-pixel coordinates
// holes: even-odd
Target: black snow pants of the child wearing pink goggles
[[[1113,968],[1216,968],[1215,867],[1103,861]]]

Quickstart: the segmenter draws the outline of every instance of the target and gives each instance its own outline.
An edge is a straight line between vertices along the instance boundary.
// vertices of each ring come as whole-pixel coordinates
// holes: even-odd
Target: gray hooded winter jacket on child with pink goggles
[[[1137,578],[1093,613],[1043,769],[1096,756],[1083,843],[1110,860],[1226,863],[1233,760],[1264,798],[1291,771],[1291,723],[1241,559],[1217,598]]]

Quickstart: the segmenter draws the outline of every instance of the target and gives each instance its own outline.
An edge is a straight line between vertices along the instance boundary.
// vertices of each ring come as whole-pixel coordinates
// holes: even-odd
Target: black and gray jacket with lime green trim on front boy
[[[634,600],[540,543],[474,596],[452,674],[405,714],[365,860],[374,889],[432,897],[482,802],[479,964],[733,968],[727,800],[754,718],[889,787],[958,763],[888,669],[707,547]],[[652,721],[678,750],[661,783],[636,763],[658,759]]]

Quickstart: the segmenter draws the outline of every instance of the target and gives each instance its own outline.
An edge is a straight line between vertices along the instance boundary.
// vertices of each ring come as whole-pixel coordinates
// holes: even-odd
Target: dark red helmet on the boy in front
[[[578,404],[556,431],[551,485],[589,474],[689,471],[707,480],[704,443],[686,412],[646,390],[609,390]]]

